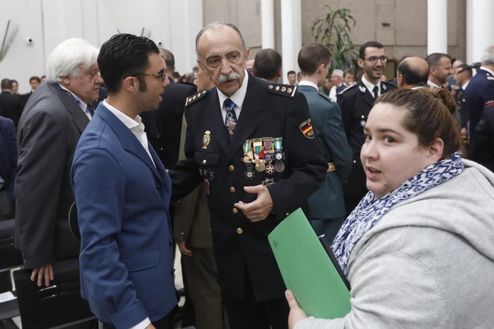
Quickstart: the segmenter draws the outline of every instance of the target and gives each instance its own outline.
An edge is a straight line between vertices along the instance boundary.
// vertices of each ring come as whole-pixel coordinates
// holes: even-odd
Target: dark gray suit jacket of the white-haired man
[[[15,246],[26,268],[79,255],[68,230],[72,159],[89,119],[72,95],[43,83],[29,98],[17,131]]]

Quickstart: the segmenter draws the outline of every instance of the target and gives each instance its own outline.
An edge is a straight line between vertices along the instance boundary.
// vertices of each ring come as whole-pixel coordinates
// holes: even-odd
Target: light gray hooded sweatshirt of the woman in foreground
[[[453,179],[395,205],[354,247],[352,310],[294,329],[494,328],[494,174]]]

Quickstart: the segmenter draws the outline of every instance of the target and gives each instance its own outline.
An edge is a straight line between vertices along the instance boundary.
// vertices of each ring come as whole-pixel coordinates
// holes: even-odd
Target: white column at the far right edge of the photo
[[[485,48],[494,44],[494,1],[467,0],[466,6],[466,60],[480,62]]]

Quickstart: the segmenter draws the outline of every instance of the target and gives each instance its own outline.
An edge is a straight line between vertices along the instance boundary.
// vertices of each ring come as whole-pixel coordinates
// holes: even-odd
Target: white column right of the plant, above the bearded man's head
[[[448,53],[448,1],[427,0],[427,54]]]

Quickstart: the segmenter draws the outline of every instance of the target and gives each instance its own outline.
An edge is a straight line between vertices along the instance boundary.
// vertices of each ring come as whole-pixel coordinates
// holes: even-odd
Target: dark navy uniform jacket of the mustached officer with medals
[[[199,169],[207,172],[213,249],[222,292],[243,299],[247,270],[256,300],[263,301],[283,297],[286,290],[267,235],[322,186],[328,164],[307,124],[307,101],[297,86],[269,83],[248,74],[247,94],[231,142],[217,89],[188,98],[188,159],[179,161],[170,170],[170,177],[175,189],[173,198],[190,188],[190,177],[185,175],[198,176]],[[203,143],[206,132],[210,137],[207,145]],[[243,187],[259,185],[268,178],[265,172],[255,171],[255,178],[247,180],[247,167],[241,160],[244,142],[263,137],[283,137],[285,170],[275,172],[275,184],[268,187],[274,212],[264,220],[252,222],[234,204],[239,200],[254,201],[257,195],[246,193]]]

